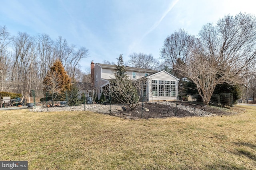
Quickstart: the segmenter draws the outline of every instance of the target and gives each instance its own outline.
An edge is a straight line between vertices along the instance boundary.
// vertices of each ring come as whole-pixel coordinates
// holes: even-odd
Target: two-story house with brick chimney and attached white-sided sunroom
[[[114,65],[99,64],[91,62],[91,78],[98,98],[106,90],[109,80],[114,78]],[[144,101],[173,101],[178,98],[178,81],[179,79],[172,74],[162,70],[134,68],[126,66],[126,73],[130,80],[145,78],[142,88],[141,98]],[[108,96],[106,96],[108,98]]]

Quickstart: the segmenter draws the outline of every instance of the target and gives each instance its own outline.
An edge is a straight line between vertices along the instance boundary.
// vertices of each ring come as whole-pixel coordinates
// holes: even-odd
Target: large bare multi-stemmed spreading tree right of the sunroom
[[[228,15],[216,25],[204,25],[199,38],[186,64],[175,68],[196,84],[208,105],[217,84],[241,83],[244,70],[255,63],[256,19],[249,14]]]

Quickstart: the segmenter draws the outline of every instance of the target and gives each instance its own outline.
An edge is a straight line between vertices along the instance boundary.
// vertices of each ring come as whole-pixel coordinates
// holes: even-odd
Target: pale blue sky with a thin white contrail
[[[255,0],[1,0],[0,26],[12,36],[59,36],[89,56],[80,62],[88,71],[91,61],[124,61],[131,53],[160,57],[166,37],[178,29],[197,35],[206,23],[230,14],[256,16]]]

